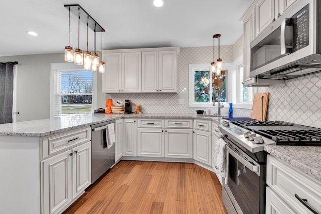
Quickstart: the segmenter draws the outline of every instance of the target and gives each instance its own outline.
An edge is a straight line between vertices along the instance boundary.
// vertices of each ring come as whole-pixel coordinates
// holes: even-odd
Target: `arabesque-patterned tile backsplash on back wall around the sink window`
[[[220,56],[224,62],[233,62],[242,54],[242,41],[243,37],[240,37],[234,45],[220,47]],[[217,53],[217,47],[214,47],[214,53]],[[238,55],[235,56],[235,54]],[[189,108],[189,64],[210,63],[213,61],[212,57],[212,46],[180,48],[177,94],[110,94],[110,96],[114,102],[130,99],[133,102],[133,109],[135,105],[141,105],[142,112],[145,113],[196,113],[197,109],[202,108]],[[179,104],[180,101],[181,104]],[[217,109],[214,107],[212,111],[216,113]],[[222,114],[228,114],[228,108],[222,109]],[[251,110],[234,109],[234,114],[250,116]]]

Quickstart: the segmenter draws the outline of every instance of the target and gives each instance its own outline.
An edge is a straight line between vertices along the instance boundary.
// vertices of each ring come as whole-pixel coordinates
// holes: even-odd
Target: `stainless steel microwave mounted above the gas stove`
[[[291,79],[321,71],[320,2],[297,0],[251,42],[250,77]]]

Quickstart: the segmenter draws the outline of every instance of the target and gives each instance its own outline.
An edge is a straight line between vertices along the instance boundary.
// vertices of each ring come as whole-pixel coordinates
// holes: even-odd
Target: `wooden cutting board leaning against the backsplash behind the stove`
[[[266,111],[267,111],[267,104],[269,102],[269,93],[268,92],[254,94],[252,113],[251,113],[252,119],[262,120],[262,99],[261,99],[261,96],[263,96],[263,120],[265,120]]]

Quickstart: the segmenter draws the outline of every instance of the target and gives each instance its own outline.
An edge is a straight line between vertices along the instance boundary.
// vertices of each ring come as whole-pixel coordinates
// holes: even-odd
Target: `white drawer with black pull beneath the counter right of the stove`
[[[306,199],[311,207],[321,212],[321,182],[270,155],[267,156],[266,182],[288,204],[308,209],[294,196]]]

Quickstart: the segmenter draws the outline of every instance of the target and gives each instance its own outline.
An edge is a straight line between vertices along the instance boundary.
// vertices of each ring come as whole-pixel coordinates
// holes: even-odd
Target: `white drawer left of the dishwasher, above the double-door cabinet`
[[[90,127],[66,131],[63,133],[50,135],[49,137],[41,138],[41,158],[46,158],[56,152],[90,140]]]

